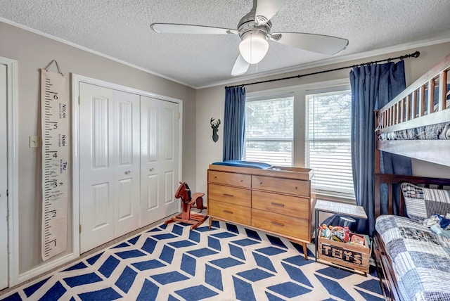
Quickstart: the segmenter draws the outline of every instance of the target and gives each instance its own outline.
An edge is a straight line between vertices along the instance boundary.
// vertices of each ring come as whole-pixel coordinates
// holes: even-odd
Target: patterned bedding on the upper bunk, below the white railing
[[[403,129],[401,131],[382,133],[378,140],[449,140],[450,122],[432,124],[425,127]]]

